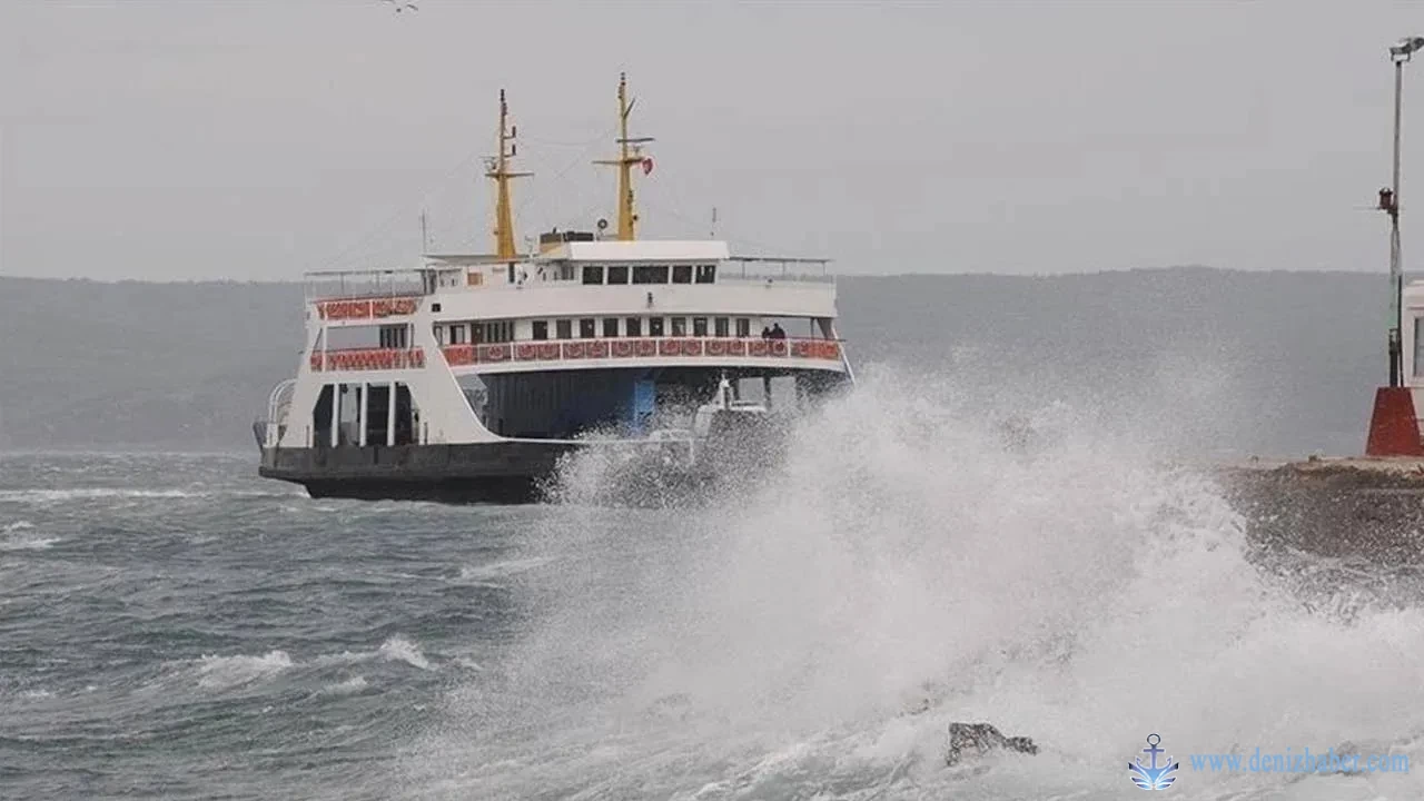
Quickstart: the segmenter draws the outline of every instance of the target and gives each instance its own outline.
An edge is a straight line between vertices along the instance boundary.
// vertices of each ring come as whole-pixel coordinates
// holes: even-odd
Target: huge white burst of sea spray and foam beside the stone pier
[[[708,509],[554,510],[557,569],[524,589],[538,616],[498,690],[468,678],[409,772],[450,797],[1131,797],[1156,733],[1183,798],[1424,794],[1188,772],[1256,745],[1424,755],[1424,614],[1306,609],[1210,480],[1156,466],[1169,435],[1062,406],[1034,425],[1005,448],[950,393],[886,378]],[[1042,753],[946,770],[954,720]]]

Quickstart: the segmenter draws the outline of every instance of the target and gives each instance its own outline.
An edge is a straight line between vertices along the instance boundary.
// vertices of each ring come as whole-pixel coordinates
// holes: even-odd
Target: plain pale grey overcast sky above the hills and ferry
[[[618,71],[646,237],[839,271],[1386,269],[1386,3],[0,0],[0,272],[296,278],[612,215]],[[1410,70],[1424,70],[1424,63]],[[1424,74],[1405,74],[1405,264]],[[1414,178],[1417,175],[1417,178]],[[1418,224],[1411,222],[1418,219]],[[1415,244],[1417,242],[1417,244]]]

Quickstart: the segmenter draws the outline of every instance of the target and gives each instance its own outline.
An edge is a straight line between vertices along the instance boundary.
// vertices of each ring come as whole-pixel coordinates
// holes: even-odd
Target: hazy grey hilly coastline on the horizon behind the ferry
[[[1356,452],[1386,279],[1209,268],[840,279],[860,375],[993,408],[1131,408],[1209,453]],[[0,448],[251,449],[302,342],[298,284],[0,277]],[[1158,419],[1152,419],[1158,418]]]

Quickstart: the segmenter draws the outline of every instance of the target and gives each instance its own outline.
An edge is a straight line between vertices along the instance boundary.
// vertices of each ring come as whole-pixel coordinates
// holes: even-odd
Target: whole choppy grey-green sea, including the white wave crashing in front
[[[1272,554],[1071,415],[874,388],[689,507],[312,500],[255,453],[0,456],[0,798],[1424,797],[1417,582]],[[894,413],[886,413],[893,406]],[[950,721],[1037,755],[944,765]]]

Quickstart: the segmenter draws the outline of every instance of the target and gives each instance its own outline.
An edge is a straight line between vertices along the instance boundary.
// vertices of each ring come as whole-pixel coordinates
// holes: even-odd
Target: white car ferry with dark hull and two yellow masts
[[[493,254],[306,275],[296,378],[255,426],[261,475],[313,497],[527,502],[560,459],[654,449],[716,480],[756,465],[786,412],[853,382],[826,259],[638,239],[627,80],[617,232],[551,231],[515,249],[514,128],[500,95]],[[645,462],[646,463],[646,462]]]

